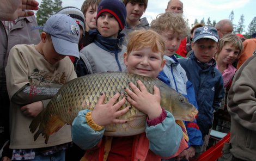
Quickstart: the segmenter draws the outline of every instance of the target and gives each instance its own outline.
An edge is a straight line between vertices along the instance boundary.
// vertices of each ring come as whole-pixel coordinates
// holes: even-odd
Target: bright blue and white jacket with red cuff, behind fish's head
[[[198,108],[193,85],[187,80],[186,72],[179,64],[179,61],[174,55],[172,57],[164,55],[164,59],[166,59],[166,65],[157,78],[180,92],[188,98],[191,104]],[[184,121],[184,123],[189,138],[188,144],[190,146],[201,146],[203,144],[202,133],[199,130],[196,120],[193,122]]]

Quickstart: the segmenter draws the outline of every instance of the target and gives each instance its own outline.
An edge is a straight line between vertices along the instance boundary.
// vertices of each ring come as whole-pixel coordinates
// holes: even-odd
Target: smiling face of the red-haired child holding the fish
[[[153,52],[150,47],[142,47],[129,55],[124,53],[124,63],[129,73],[156,78],[166,60],[162,59],[161,53]]]

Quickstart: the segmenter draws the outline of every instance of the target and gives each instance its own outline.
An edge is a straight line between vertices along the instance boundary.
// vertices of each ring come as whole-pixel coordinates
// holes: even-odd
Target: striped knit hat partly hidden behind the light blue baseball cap
[[[79,24],[82,29],[83,29],[83,35],[85,33],[85,18],[83,15],[83,12],[76,8],[76,7],[64,7],[62,9],[60,9],[59,11],[57,11],[57,14],[69,14],[70,17],[74,18],[74,20],[76,21],[77,24]]]

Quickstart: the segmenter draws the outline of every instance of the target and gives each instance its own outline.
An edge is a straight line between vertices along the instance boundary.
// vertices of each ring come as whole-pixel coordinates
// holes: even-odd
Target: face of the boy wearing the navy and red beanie
[[[97,19],[97,29],[104,37],[117,38],[120,27],[112,14],[104,12]]]

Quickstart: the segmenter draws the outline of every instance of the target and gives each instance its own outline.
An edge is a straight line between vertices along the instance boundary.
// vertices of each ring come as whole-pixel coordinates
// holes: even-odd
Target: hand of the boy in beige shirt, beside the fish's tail
[[[21,112],[25,116],[35,117],[42,111],[42,109],[44,109],[44,104],[42,104],[42,101],[38,101],[22,106]]]

